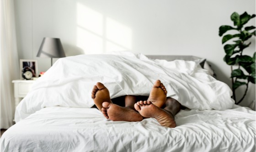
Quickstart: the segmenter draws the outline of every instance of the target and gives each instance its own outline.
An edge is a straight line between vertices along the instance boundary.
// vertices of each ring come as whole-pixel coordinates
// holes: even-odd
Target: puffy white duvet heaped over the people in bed
[[[197,110],[226,110],[234,105],[232,91],[192,61],[150,60],[142,54],[79,55],[60,58],[32,86],[16,108],[15,121],[45,107],[90,108],[91,89],[102,82],[111,98],[149,95],[160,79],[168,94],[181,105]]]

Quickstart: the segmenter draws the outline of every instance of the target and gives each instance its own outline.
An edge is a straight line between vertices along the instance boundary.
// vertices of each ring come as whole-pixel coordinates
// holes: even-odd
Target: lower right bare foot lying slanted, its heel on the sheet
[[[139,111],[140,115],[146,118],[155,118],[161,126],[176,127],[173,116],[150,101],[138,101],[134,104],[134,108]]]

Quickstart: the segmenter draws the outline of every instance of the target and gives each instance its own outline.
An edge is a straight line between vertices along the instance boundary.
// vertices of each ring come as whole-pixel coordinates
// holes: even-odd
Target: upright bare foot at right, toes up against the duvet
[[[148,101],[161,108],[166,101],[167,91],[164,84],[160,80],[156,80],[153,88],[150,91]]]

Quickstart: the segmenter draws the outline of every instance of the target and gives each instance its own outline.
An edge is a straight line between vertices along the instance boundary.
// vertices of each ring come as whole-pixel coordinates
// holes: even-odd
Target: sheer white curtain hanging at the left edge
[[[16,30],[14,18],[14,1],[1,0],[1,56],[0,56],[0,98],[1,98],[1,129],[13,125],[14,118],[14,79],[19,79],[19,61],[16,46]]]

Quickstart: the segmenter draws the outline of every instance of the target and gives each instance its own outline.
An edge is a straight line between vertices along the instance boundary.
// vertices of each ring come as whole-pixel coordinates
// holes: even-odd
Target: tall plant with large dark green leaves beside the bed
[[[252,56],[243,54],[244,49],[249,47],[251,42],[248,40],[256,35],[255,26],[245,26],[245,24],[255,17],[255,14],[249,15],[247,12],[239,15],[234,12],[231,15],[231,20],[234,22],[234,26],[224,25],[219,27],[219,36],[222,37],[227,31],[235,31],[235,34],[227,34],[222,37],[222,44],[230,42],[231,44],[225,44],[225,57],[224,61],[231,65],[231,79],[232,79],[232,91],[235,104],[239,104],[244,98],[248,90],[248,84],[251,82],[255,84],[255,52]],[[245,26],[245,27],[244,27]],[[233,66],[237,67],[233,69]],[[245,93],[240,100],[235,98],[235,90],[245,85]]]

